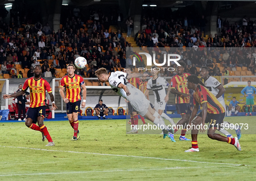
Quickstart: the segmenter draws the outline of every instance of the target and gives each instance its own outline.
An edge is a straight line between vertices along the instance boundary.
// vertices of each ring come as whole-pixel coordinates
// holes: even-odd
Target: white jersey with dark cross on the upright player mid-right
[[[152,89],[156,102],[162,102],[166,96],[165,86],[170,84],[164,78],[157,77],[155,80],[149,79],[147,89]]]

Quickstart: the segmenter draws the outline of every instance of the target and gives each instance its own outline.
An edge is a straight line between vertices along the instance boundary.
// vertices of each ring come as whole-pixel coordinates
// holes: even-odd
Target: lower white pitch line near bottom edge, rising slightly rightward
[[[21,176],[21,175],[55,175],[55,174],[79,174],[79,173],[95,173],[95,172],[116,172],[116,171],[152,171],[152,170],[169,170],[169,169],[190,169],[190,168],[213,168],[213,167],[234,167],[238,165],[227,165],[227,166],[211,166],[211,167],[172,167],[172,168],[154,168],[154,169],[136,169],[136,170],[105,170],[105,171],[74,171],[74,172],[56,172],[56,173],[35,173],[35,174],[10,174],[0,175],[4,176]]]

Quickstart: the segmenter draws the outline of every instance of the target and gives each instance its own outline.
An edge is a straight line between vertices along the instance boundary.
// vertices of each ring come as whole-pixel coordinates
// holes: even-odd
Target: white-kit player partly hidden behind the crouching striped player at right
[[[222,97],[222,94],[224,94],[224,92],[226,91],[224,89],[224,87],[222,86],[222,84],[214,77],[209,76],[209,70],[207,67],[203,66],[200,68],[200,76],[201,78],[204,79],[204,85],[205,87],[212,93],[214,94],[214,96],[217,98],[217,100],[221,103],[221,105],[224,107],[225,112],[226,112],[226,105],[225,105],[225,101],[224,98]],[[198,116],[196,116],[195,119],[201,119],[202,118],[202,113],[199,113]],[[229,126],[229,122],[227,121],[223,121],[224,123],[224,127],[226,128],[230,128]],[[235,129],[237,133],[237,138],[240,139],[241,138],[241,129],[240,126],[238,127],[238,129]],[[219,129],[220,133],[223,133],[224,135],[226,135],[227,137],[233,137],[230,133],[227,132],[226,129]]]

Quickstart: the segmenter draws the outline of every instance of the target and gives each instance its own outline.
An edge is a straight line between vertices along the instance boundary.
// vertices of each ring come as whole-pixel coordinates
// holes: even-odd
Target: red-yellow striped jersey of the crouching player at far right
[[[214,94],[212,94],[206,87],[198,84],[194,91],[194,105],[200,104],[200,106],[202,106],[202,103],[207,103],[207,113],[225,113],[224,107]]]

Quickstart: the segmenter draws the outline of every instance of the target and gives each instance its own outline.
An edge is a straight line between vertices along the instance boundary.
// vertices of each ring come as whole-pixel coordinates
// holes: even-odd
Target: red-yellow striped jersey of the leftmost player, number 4
[[[48,93],[52,92],[50,84],[43,78],[36,80],[34,77],[28,78],[22,90],[30,89],[30,103],[29,107],[40,107],[45,106],[45,91]]]

